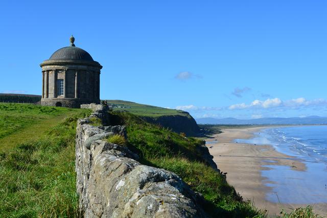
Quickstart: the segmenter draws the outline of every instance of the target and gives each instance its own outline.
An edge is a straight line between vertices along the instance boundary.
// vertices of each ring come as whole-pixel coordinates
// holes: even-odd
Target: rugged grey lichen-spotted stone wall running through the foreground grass
[[[92,115],[105,117],[102,109]],[[181,178],[139,163],[126,147],[104,139],[112,134],[126,131],[123,126],[91,126],[89,118],[78,120],[77,191],[85,217],[207,216],[203,198]]]

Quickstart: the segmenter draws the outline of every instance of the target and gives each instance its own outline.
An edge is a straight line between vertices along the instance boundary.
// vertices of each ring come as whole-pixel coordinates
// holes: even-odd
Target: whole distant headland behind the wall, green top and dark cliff
[[[188,136],[197,136],[200,134],[200,128],[196,124],[195,119],[185,111],[121,100],[107,100],[107,103],[113,106],[114,111],[129,112],[141,117],[148,123],[169,128],[176,133],[183,132]]]

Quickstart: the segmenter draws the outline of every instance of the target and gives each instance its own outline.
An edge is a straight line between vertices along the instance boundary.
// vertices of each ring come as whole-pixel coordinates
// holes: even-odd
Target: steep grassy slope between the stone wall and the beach
[[[204,144],[197,138],[186,138],[168,129],[144,122],[127,112],[111,112],[115,124],[127,127],[128,147],[141,162],[176,173],[190,187],[200,192],[207,203],[206,211],[221,217],[264,217],[265,212],[242,201],[225,178],[204,163],[197,148]]]

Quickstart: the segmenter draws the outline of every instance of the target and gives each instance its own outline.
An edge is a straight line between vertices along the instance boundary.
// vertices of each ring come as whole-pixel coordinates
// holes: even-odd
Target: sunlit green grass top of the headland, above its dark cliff
[[[137,104],[134,102],[121,101],[121,100],[107,100],[108,105],[114,105],[114,111],[127,111],[137,116],[158,117],[164,115],[181,115],[190,116],[182,110],[161,108],[151,105]],[[118,108],[120,107],[120,108]]]

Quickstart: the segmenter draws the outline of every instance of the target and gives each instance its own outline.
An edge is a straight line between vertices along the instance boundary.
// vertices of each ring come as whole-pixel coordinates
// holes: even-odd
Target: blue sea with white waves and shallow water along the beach
[[[327,203],[327,126],[293,126],[267,128],[241,143],[270,144],[278,152],[306,164],[306,171],[291,166],[263,163],[265,185],[271,187],[266,199],[274,203]],[[302,190],[306,189],[306,193]],[[309,191],[308,191],[309,190]],[[308,192],[310,193],[308,195]],[[305,195],[305,196],[303,196]]]

